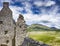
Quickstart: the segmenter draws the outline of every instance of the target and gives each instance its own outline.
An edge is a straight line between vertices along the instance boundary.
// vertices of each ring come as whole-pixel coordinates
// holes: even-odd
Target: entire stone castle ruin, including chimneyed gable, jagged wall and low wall
[[[0,11],[0,46],[48,46],[26,37],[26,24],[20,14],[17,22],[12,18],[8,2],[3,2]]]

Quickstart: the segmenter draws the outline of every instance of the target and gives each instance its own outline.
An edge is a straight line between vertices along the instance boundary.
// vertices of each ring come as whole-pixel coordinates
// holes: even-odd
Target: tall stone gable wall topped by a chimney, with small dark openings
[[[12,19],[12,11],[9,8],[9,3],[4,2],[3,8],[0,11],[0,45],[6,44],[12,46],[14,37],[14,24]]]

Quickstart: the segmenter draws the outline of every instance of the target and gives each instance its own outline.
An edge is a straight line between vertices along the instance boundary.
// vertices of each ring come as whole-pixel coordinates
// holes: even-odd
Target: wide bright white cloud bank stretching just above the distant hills
[[[43,24],[43,25],[47,25],[49,27],[51,26],[55,26],[56,28],[60,28],[60,17],[56,17],[55,16],[53,17],[53,15],[34,15],[34,14],[23,14],[24,15],[24,18],[25,18],[25,21],[27,24],[33,24],[33,23],[38,23],[38,24]],[[42,23],[41,21],[49,21],[51,23]]]

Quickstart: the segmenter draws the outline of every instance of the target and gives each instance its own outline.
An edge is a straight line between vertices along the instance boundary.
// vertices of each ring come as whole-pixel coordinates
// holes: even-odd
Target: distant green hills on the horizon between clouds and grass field
[[[48,27],[42,24],[32,24],[27,27],[28,31],[58,31],[60,29],[57,29],[55,27]]]

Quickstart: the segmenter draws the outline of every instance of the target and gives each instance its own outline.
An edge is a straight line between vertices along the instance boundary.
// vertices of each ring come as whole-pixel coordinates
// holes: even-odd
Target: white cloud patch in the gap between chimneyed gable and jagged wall
[[[18,18],[18,16],[19,16],[19,14],[21,14],[19,11],[22,11],[23,8],[21,8],[21,7],[16,7],[16,6],[10,6],[10,9],[11,9],[12,12],[13,12],[13,19],[14,19],[15,21],[17,21],[17,18]]]

